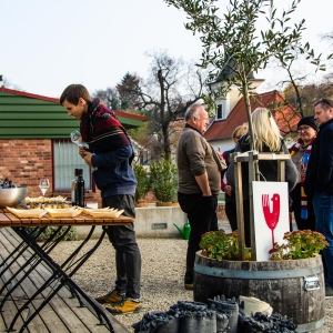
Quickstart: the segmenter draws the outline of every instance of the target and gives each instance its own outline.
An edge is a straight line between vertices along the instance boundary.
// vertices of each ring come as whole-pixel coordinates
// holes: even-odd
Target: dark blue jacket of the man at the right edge
[[[333,119],[323,123],[314,141],[304,181],[306,195],[333,195]]]

